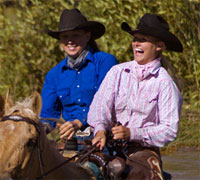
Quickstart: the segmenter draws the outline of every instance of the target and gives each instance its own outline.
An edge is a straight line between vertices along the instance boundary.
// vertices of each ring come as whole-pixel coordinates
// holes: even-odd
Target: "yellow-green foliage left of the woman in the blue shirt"
[[[0,90],[14,97],[41,91],[45,74],[64,58],[59,44],[46,28],[57,29],[63,8],[70,1],[16,0],[0,3]]]

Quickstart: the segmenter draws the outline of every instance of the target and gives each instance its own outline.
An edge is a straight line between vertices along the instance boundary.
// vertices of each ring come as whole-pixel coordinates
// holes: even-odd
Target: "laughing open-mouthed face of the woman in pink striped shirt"
[[[134,60],[141,65],[147,64],[156,59],[164,47],[164,42],[151,36],[136,33],[132,42]]]

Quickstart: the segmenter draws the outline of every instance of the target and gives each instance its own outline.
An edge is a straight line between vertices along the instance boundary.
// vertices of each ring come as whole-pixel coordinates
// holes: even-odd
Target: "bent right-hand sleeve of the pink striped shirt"
[[[140,140],[149,145],[163,147],[176,138],[183,99],[172,80],[165,79],[160,82],[157,101],[157,125],[131,128],[131,140]]]

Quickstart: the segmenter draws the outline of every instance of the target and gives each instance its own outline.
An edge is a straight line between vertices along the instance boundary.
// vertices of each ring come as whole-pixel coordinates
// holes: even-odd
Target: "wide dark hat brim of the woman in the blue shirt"
[[[59,31],[52,31],[52,30],[47,29],[46,33],[49,36],[60,40],[59,38],[60,33],[65,32],[65,31],[78,30],[78,29],[85,29],[91,32],[92,38],[94,40],[100,38],[105,33],[104,25],[96,21],[87,21],[76,27],[66,27],[66,28],[60,29]]]

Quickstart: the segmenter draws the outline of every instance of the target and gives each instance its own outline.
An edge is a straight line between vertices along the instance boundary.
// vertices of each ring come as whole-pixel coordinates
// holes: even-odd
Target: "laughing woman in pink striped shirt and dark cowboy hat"
[[[126,139],[129,157],[145,157],[144,165],[150,169],[155,165],[153,176],[162,179],[159,147],[177,136],[182,97],[160,60],[163,50],[182,52],[183,47],[168,23],[155,14],[146,13],[135,30],[125,22],[121,27],[133,36],[134,60],[111,68],[93,99],[88,114],[88,123],[94,127],[93,144],[102,150],[108,131],[114,140]],[[138,168],[134,177],[146,170]]]

